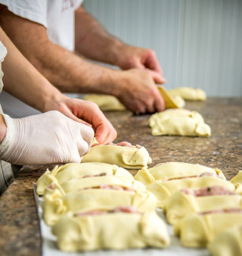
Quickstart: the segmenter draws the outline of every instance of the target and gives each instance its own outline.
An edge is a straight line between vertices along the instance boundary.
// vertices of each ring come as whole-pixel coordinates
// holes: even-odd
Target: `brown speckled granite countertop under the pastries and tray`
[[[189,102],[187,109],[199,111],[212,128],[210,138],[151,136],[149,116],[129,112],[106,113],[118,131],[116,141],[144,145],[153,165],[167,161],[200,163],[223,170],[231,179],[242,170],[242,98],[210,98]],[[25,166],[0,197],[0,254],[41,255],[41,237],[33,185],[48,166]],[[134,174],[135,172],[133,172]]]

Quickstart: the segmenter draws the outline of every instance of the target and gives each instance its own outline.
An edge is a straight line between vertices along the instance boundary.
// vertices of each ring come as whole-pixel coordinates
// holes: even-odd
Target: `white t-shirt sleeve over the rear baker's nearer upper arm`
[[[10,12],[24,19],[37,22],[47,28],[48,0],[0,0]]]

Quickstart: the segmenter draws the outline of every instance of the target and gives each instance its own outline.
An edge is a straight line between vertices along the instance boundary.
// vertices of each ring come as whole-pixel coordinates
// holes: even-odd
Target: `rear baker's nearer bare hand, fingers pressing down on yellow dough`
[[[115,86],[115,96],[129,110],[140,113],[163,111],[165,102],[154,81],[158,80],[157,73],[138,68],[119,73]]]

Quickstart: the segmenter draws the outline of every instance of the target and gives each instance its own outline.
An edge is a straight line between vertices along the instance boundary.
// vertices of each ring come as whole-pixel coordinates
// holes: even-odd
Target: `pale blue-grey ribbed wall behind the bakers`
[[[242,95],[242,0],[85,0],[113,35],[152,48],[168,89]]]

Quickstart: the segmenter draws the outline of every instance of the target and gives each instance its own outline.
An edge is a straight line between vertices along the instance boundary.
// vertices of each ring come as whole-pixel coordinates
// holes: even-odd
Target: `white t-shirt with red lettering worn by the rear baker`
[[[0,0],[10,12],[47,29],[51,42],[74,51],[75,10],[83,0]]]

